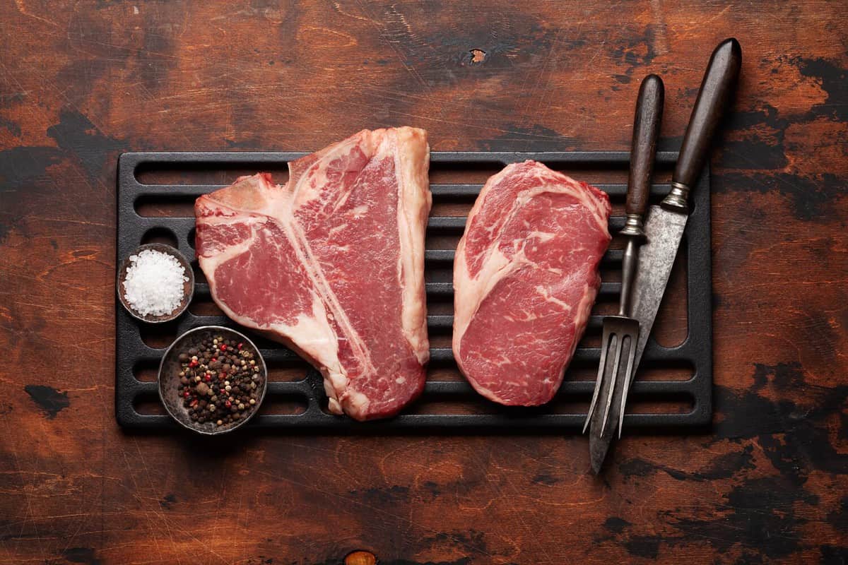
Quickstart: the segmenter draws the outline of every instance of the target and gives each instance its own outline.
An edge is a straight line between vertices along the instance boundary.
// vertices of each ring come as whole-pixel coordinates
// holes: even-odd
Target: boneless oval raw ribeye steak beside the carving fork
[[[454,262],[454,356],[477,392],[517,406],[555,395],[600,286],[610,210],[533,161],[483,186]]]

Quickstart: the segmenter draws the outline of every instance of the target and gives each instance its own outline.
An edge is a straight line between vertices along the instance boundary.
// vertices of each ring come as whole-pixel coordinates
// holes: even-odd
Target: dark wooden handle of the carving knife
[[[680,148],[672,182],[691,188],[698,180],[710,150],[712,136],[736,88],[741,64],[742,47],[732,37],[719,43],[712,52],[683,136],[683,147]]]

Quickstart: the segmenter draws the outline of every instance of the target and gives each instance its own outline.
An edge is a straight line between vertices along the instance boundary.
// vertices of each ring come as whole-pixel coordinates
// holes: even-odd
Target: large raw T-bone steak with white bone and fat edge
[[[198,198],[197,252],[227,316],[324,375],[333,413],[365,420],[419,395],[429,358],[427,132],[363,130]]]

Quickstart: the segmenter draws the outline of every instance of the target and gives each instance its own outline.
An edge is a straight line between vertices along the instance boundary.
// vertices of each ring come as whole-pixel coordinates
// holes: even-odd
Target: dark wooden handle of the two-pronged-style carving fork
[[[633,118],[633,141],[630,146],[630,176],[628,177],[628,214],[644,215],[648,208],[650,176],[654,172],[656,140],[660,137],[662,103],[665,88],[657,75],[644,77],[636,99]]]

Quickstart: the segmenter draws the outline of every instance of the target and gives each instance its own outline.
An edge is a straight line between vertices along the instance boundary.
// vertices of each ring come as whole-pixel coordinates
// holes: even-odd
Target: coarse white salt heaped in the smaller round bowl
[[[130,256],[124,277],[124,296],[142,316],[170,314],[185,297],[186,269],[172,255],[145,249]]]

